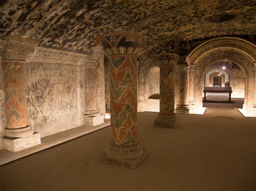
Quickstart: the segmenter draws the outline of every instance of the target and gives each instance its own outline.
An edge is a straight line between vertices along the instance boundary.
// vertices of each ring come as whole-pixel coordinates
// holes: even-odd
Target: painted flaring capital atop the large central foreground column
[[[102,45],[105,55],[137,56],[146,47],[146,39],[134,31],[100,34],[96,36],[96,44]]]

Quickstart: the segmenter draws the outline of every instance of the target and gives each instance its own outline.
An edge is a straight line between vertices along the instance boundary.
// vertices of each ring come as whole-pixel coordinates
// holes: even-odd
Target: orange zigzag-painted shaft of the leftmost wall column
[[[23,68],[24,63],[3,61],[5,116],[9,129],[28,125]]]

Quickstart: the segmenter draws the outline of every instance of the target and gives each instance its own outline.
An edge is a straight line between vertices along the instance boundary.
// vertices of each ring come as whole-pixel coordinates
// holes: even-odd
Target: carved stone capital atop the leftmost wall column
[[[4,44],[3,60],[28,61],[35,52],[37,45],[38,43],[34,39],[10,35]]]

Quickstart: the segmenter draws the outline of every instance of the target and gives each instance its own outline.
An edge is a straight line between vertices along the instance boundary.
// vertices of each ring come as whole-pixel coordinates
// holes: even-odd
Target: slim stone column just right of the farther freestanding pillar
[[[179,84],[179,99],[176,107],[178,113],[189,113],[190,107],[188,105],[188,83],[189,83],[189,66],[185,63],[178,64],[178,84]]]

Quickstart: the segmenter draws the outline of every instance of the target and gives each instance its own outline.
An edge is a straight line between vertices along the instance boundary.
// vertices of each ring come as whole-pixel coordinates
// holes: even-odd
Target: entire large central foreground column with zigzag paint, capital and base
[[[97,36],[110,60],[110,108],[112,140],[101,162],[136,168],[147,153],[137,132],[137,62],[145,39],[129,31]]]

